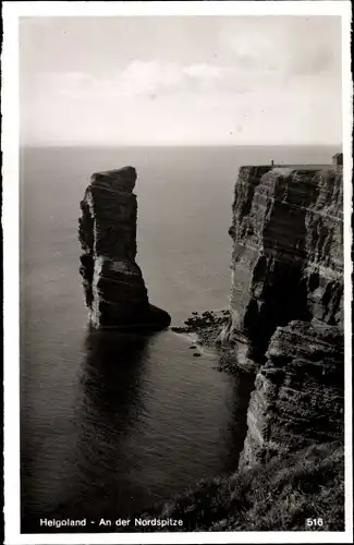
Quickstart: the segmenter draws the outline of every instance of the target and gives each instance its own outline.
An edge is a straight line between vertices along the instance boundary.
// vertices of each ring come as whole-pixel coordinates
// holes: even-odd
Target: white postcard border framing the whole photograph
[[[4,331],[4,521],[5,544],[117,543],[351,543],[353,538],[352,452],[352,74],[351,2],[343,1],[157,1],[2,2],[3,152],[3,331]],[[344,334],[345,334],[345,531],[179,532],[112,534],[22,534],[20,531],[20,202],[19,202],[19,19],[23,16],[216,16],[328,15],[342,20],[342,121],[344,155]]]

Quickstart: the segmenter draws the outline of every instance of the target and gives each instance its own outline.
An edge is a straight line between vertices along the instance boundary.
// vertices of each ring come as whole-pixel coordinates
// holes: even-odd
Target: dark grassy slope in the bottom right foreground
[[[184,532],[344,531],[343,446],[313,446],[266,465],[199,482],[144,514],[182,519]],[[322,526],[306,525],[306,519],[318,518]]]

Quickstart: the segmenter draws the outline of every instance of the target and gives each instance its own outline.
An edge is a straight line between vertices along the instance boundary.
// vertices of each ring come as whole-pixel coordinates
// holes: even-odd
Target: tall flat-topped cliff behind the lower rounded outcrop
[[[231,318],[221,334],[255,367],[278,326],[343,323],[342,167],[242,167],[235,186]]]

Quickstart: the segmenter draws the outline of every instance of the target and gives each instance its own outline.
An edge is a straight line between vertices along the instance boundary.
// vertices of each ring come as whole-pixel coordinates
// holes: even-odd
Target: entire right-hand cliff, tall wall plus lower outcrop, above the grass
[[[243,167],[221,342],[258,371],[240,465],[343,437],[342,167]]]

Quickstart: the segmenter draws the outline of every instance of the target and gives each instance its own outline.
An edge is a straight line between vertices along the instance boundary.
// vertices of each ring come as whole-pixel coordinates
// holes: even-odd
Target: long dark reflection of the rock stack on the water
[[[133,461],[127,446],[145,411],[141,383],[150,338],[117,331],[87,335],[76,414],[77,483],[75,497],[61,506],[71,517],[123,516],[142,500],[139,483],[134,485],[129,475]]]

